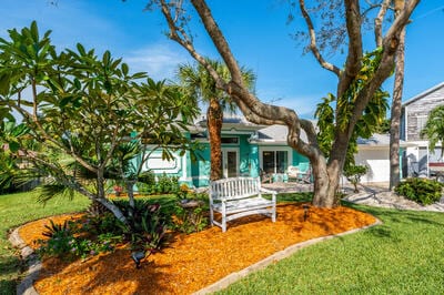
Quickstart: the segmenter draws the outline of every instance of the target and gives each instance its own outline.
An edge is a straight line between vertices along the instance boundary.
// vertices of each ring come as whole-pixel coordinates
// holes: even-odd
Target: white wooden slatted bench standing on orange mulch
[[[262,193],[271,194],[268,200]],[[260,177],[231,177],[210,183],[210,222],[226,231],[226,222],[252,214],[264,214],[276,221],[276,192],[261,187]],[[214,220],[219,212],[221,222]]]

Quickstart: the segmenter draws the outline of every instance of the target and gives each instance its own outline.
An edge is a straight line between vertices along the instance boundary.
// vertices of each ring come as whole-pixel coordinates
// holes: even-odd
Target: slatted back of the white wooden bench
[[[258,195],[261,190],[259,177],[232,177],[210,183],[210,197],[233,200]]]

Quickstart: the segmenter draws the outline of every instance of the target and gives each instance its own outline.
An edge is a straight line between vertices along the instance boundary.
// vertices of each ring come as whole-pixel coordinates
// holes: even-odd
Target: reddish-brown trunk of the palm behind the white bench
[[[210,180],[222,179],[222,149],[221,131],[223,122],[223,111],[218,99],[210,99],[210,105],[206,111],[208,131],[210,138],[211,171]]]

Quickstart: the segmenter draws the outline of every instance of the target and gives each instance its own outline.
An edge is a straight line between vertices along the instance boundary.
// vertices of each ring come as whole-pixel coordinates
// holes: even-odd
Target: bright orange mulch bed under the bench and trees
[[[239,272],[293,244],[371,225],[376,220],[349,207],[310,208],[304,221],[302,203],[280,204],[278,220],[249,216],[200,233],[172,236],[161,253],[142,261],[137,269],[124,246],[87,261],[43,261],[34,283],[40,294],[190,294]],[[73,216],[73,217],[79,217]],[[54,222],[70,215],[51,217]],[[42,238],[48,220],[20,228],[26,243]]]

